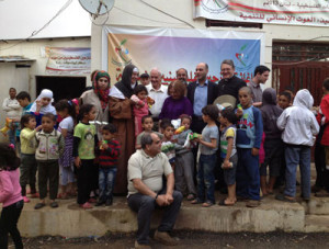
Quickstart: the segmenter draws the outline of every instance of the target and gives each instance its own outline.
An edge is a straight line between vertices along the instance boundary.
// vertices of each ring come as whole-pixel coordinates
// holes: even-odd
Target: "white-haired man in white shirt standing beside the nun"
[[[158,68],[154,68],[150,71],[151,83],[146,86],[148,95],[155,100],[155,104],[149,109],[155,122],[159,121],[159,114],[161,112],[164,100],[168,98],[168,89],[161,84],[161,72]]]

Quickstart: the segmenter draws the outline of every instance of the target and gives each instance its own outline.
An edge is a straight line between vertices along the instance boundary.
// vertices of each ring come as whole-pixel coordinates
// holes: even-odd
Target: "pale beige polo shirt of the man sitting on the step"
[[[134,179],[140,179],[150,190],[159,192],[163,185],[162,176],[170,173],[172,168],[164,154],[150,157],[143,149],[138,149],[128,161],[128,195],[138,193],[134,188]]]

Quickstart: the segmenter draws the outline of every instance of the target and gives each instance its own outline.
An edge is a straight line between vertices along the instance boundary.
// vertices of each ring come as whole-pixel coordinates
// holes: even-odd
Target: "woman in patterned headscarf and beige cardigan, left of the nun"
[[[92,89],[82,93],[80,97],[80,105],[92,104],[95,106],[97,115],[94,125],[98,132],[98,138],[101,140],[102,125],[109,124],[109,92],[111,79],[106,71],[94,71],[92,80]]]

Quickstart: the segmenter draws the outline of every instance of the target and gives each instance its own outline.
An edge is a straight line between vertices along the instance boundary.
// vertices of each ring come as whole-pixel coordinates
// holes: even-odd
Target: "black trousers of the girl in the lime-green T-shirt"
[[[88,202],[90,191],[94,186],[94,165],[93,159],[81,160],[80,168],[77,168],[78,180],[78,204],[84,204]]]

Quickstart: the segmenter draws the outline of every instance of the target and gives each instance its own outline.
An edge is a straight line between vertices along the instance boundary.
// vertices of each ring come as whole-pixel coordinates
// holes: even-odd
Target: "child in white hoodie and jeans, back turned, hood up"
[[[302,176],[302,196],[305,201],[310,197],[310,147],[319,133],[319,125],[310,107],[314,99],[307,89],[297,92],[293,106],[283,111],[277,118],[277,127],[284,129],[282,139],[285,148],[285,190],[277,194],[276,200],[295,202],[296,169],[299,163]]]

